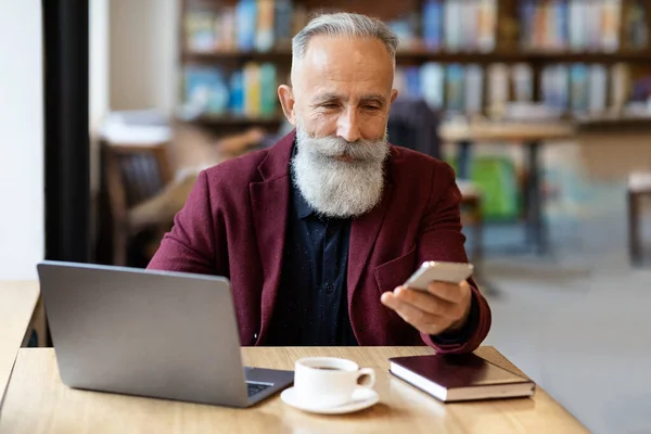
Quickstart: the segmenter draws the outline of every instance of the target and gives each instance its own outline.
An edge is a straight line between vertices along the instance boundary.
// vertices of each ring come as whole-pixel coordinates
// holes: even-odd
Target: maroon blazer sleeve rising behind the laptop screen
[[[202,171],[148,268],[214,275],[214,231],[208,181],[206,173]]]

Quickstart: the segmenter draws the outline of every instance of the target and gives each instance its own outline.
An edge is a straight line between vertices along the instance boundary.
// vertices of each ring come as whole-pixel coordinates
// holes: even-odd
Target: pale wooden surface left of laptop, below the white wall
[[[37,282],[0,281],[0,401],[38,295]]]

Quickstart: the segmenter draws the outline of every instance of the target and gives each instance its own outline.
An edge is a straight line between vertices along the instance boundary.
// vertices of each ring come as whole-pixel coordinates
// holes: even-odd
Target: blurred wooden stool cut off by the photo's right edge
[[[634,173],[628,177],[628,253],[630,263],[642,263],[642,234],[640,230],[641,203],[651,197],[651,173]]]

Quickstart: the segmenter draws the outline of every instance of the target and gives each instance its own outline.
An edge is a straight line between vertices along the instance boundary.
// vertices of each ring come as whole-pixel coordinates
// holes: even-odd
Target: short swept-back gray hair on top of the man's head
[[[375,38],[384,43],[395,65],[398,37],[382,21],[356,13],[332,13],[318,15],[292,39],[292,69],[307,51],[309,40],[318,35],[346,36],[349,38]]]

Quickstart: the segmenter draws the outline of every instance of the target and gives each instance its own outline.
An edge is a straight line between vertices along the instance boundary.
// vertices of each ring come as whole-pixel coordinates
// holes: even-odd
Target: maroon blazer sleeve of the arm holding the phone
[[[419,264],[424,260],[467,263],[468,257],[463,247],[465,237],[461,232],[459,208],[461,192],[455,182],[455,174],[451,167],[442,164],[435,170],[432,183],[430,204],[420,228]],[[439,193],[442,188],[443,194]],[[434,347],[438,353],[470,353],[480,346],[488,334],[490,308],[477,290],[476,283],[472,279],[469,283],[476,310],[471,321],[472,329],[464,333],[464,340],[443,344],[442,341],[445,340],[432,340],[432,336],[421,333],[423,342]]]

